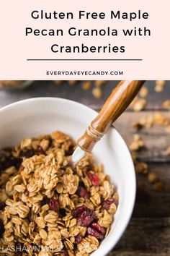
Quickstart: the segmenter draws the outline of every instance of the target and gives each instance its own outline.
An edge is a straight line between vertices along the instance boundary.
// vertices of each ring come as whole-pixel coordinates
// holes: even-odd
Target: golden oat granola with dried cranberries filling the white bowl
[[[74,148],[53,132],[1,151],[1,255],[89,255],[107,236],[118,195],[91,154],[70,165]]]

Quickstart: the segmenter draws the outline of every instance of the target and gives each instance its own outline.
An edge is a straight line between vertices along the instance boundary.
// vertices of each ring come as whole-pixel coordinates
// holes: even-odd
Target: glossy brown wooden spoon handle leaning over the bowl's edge
[[[98,116],[77,141],[80,148],[91,151],[107,129],[122,114],[135,98],[145,81],[121,81],[104,103]]]

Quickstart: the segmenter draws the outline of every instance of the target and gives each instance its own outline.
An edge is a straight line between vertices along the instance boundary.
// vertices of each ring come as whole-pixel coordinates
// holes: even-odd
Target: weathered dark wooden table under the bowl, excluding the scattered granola
[[[82,90],[81,82],[76,85],[68,85],[67,82],[63,82],[63,85],[54,85],[51,81],[37,81],[27,90],[15,92],[0,90],[0,107],[24,98],[48,96],[79,101],[99,110],[116,83],[116,81],[107,82],[103,88],[102,98],[97,100],[91,95],[91,90]],[[115,127],[128,144],[133,140],[135,133],[133,122],[138,121],[144,114],[153,114],[154,111],[165,112],[161,103],[170,99],[170,81],[166,82],[166,88],[162,93],[154,92],[154,81],[149,81],[146,85],[150,92],[146,110],[135,113],[128,109],[115,123]],[[135,209],[128,229],[109,256],[170,255],[170,157],[164,155],[165,148],[170,146],[170,136],[161,126],[142,129],[140,135],[146,142],[147,148],[141,151],[140,161],[146,161],[150,170],[161,176],[166,187],[164,192],[156,192],[148,183],[146,176],[137,175],[138,181],[143,181],[145,184],[145,191],[137,192]]]

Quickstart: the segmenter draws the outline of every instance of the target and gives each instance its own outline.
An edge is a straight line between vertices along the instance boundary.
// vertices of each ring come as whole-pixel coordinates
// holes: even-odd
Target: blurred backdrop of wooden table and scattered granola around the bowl
[[[0,107],[59,97],[99,111],[118,82],[0,81]],[[138,189],[133,218],[109,255],[170,255],[170,81],[147,81],[114,125],[133,155]]]

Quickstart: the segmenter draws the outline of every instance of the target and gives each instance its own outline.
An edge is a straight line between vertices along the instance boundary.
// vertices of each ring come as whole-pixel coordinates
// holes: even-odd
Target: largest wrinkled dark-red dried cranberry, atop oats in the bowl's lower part
[[[95,212],[87,208],[81,213],[81,216],[77,220],[77,224],[80,226],[89,226],[92,221],[94,221]]]

